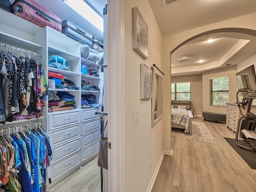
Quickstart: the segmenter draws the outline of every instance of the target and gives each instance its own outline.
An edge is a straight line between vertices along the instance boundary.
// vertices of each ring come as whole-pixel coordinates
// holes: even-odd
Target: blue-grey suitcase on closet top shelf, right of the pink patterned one
[[[92,40],[94,38],[92,34],[88,33],[76,24],[73,24],[69,20],[62,21],[62,33],[82,44],[92,47]]]

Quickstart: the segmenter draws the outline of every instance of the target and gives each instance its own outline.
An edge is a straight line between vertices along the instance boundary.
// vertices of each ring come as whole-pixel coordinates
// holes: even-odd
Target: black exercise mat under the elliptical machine
[[[235,139],[225,138],[228,144],[240,155],[240,157],[250,166],[252,169],[256,169],[256,152],[242,149],[236,145]],[[238,140],[238,143],[243,146],[249,146],[244,140]]]

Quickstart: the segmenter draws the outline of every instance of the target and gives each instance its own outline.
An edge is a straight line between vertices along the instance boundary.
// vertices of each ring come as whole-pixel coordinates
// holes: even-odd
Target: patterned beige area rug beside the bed
[[[182,129],[172,128],[172,137],[217,144],[206,124],[202,122],[192,122],[192,135],[184,133]]]

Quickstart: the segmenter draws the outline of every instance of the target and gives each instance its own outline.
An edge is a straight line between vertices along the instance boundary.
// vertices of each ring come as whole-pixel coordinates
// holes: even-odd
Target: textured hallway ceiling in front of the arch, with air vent
[[[168,36],[256,11],[256,0],[148,0],[162,33]]]

